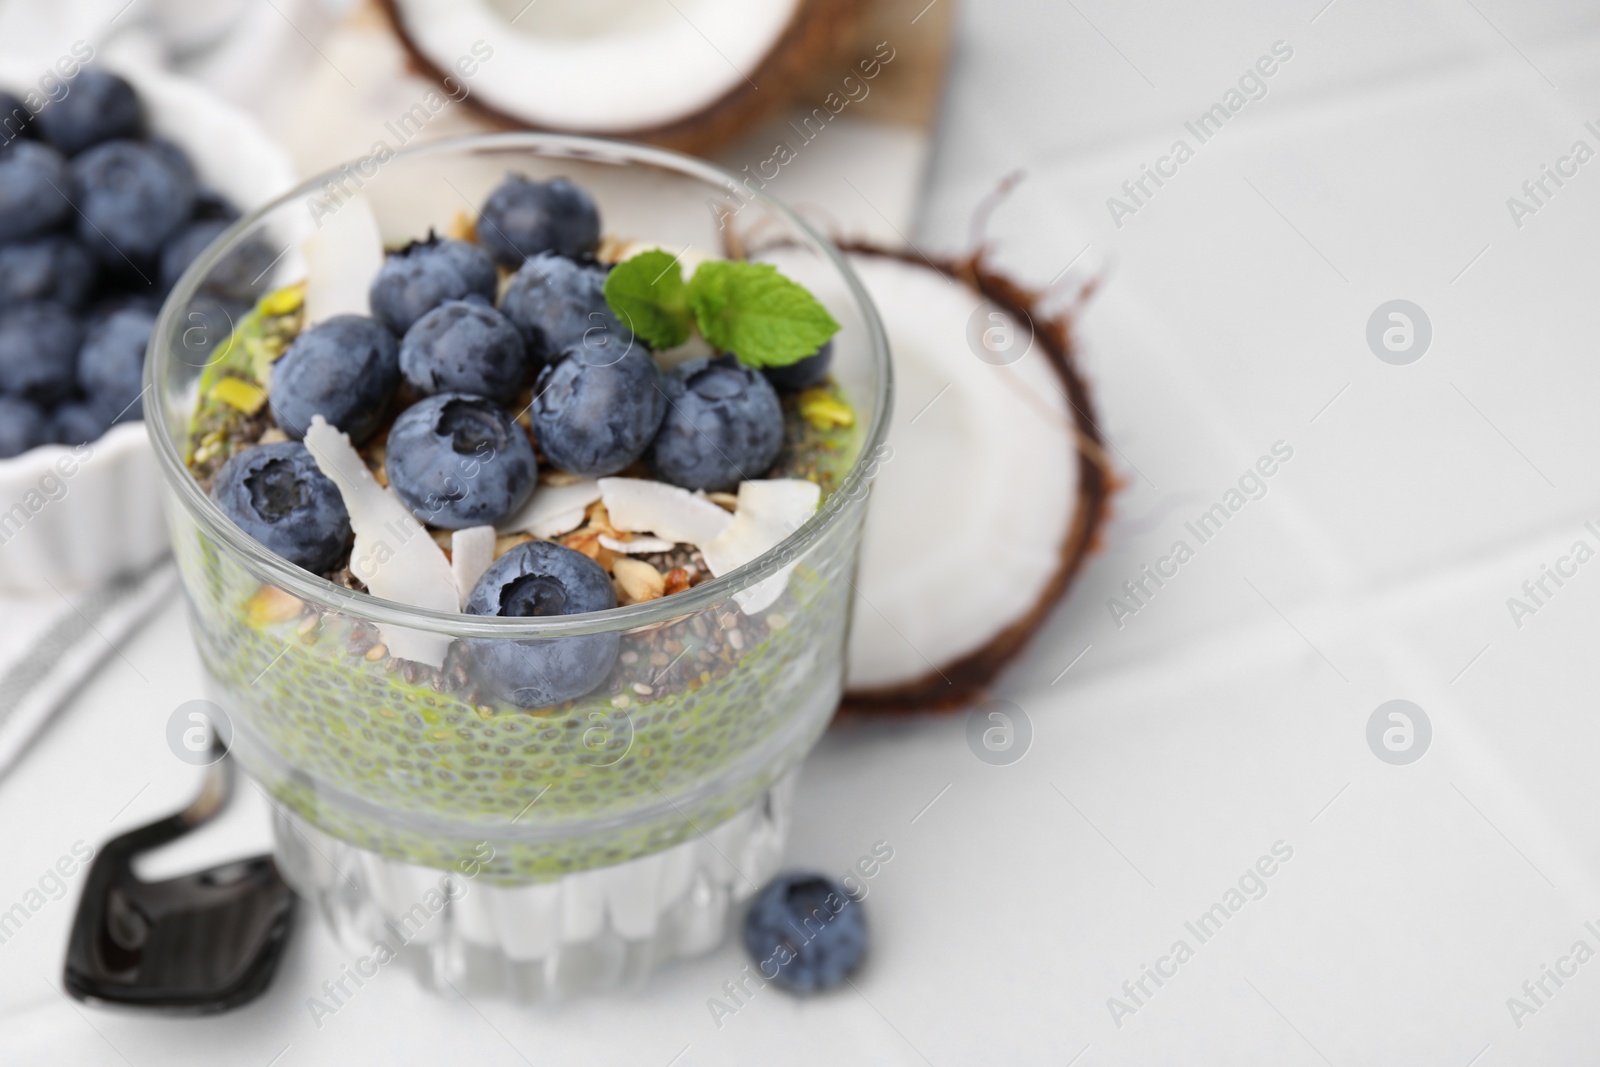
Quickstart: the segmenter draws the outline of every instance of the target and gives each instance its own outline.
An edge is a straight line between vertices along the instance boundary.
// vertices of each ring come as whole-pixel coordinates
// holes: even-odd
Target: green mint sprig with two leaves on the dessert
[[[611,310],[651,349],[706,342],[746,366],[789,366],[813,355],[838,323],[803,286],[765,262],[710,259],[685,285],[677,259],[646,251],[619,262],[605,283]]]

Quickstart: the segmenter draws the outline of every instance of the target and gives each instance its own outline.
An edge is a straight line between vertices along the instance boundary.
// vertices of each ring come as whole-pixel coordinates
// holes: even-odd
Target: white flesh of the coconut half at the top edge
[[[394,10],[411,45],[494,110],[531,126],[624,133],[693,117],[746,86],[800,3],[394,0]],[[462,58],[477,67],[470,77]]]

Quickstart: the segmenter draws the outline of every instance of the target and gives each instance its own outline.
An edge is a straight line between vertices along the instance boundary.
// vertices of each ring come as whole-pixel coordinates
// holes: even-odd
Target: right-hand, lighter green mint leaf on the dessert
[[[822,347],[838,323],[814,296],[765,262],[709,259],[690,278],[701,334],[746,366],[787,366]]]

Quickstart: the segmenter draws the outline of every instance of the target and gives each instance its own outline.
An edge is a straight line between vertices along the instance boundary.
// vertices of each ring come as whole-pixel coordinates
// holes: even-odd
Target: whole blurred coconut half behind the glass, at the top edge
[[[848,43],[854,0],[382,0],[413,64],[498,125],[709,152]],[[462,96],[464,94],[464,96]]]

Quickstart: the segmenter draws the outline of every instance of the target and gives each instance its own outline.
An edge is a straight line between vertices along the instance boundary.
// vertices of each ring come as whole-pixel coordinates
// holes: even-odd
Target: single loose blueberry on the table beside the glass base
[[[861,902],[826,875],[779,875],[744,917],[744,950],[762,977],[790,992],[838,985],[867,952]]]

